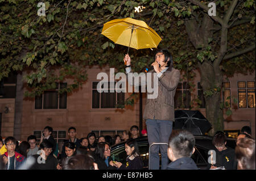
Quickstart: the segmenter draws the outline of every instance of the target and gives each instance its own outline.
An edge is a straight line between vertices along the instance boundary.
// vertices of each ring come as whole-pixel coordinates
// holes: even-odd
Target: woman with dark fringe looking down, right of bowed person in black
[[[64,144],[64,148],[65,148],[65,154],[67,155],[66,158],[64,158],[63,160],[60,161],[60,163],[58,163],[57,165],[57,169],[58,170],[62,170],[65,168],[65,166],[68,165],[68,161],[69,159],[76,154],[76,145],[73,142],[65,142]]]

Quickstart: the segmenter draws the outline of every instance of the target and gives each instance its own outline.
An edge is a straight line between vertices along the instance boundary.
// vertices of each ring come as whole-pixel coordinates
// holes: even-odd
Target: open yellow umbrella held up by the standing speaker
[[[156,48],[161,37],[142,20],[132,18],[114,19],[104,24],[102,35],[114,41],[115,44],[129,48]]]

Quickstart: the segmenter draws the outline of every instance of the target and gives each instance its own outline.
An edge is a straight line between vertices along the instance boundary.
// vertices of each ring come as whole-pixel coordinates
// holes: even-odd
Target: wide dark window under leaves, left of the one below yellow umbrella
[[[44,91],[35,97],[35,109],[67,109],[67,92],[59,93],[60,89],[67,87],[67,83],[56,82],[56,89]]]

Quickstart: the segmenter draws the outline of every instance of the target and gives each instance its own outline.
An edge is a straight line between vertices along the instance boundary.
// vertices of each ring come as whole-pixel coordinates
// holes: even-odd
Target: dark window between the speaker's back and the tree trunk
[[[190,108],[191,93],[190,86],[187,82],[179,82],[174,96],[175,108]]]

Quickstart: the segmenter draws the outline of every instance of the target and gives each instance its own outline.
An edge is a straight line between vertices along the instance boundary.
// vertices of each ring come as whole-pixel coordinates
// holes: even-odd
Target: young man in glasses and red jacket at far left
[[[5,139],[7,151],[3,155],[3,162],[6,165],[6,170],[18,170],[24,162],[25,158],[22,154],[15,151],[16,139],[12,136]]]

